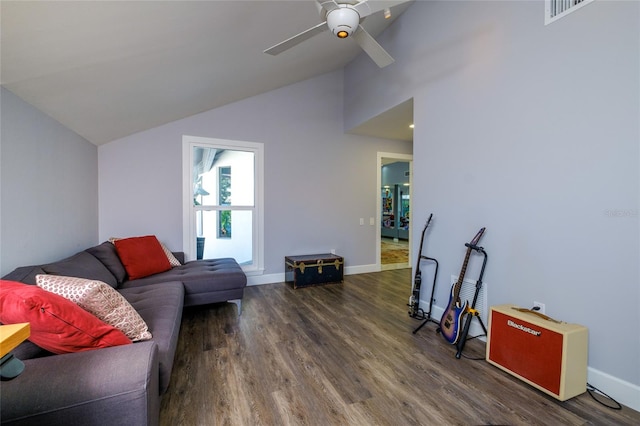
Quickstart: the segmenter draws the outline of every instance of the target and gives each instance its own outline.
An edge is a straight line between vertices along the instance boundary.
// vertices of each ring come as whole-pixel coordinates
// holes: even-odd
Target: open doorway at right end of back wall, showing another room
[[[408,154],[378,153],[380,270],[411,267],[412,159]]]

